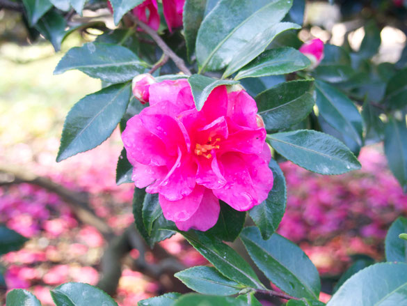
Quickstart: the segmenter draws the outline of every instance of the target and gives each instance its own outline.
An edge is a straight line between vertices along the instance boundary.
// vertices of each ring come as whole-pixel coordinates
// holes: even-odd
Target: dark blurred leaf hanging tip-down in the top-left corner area
[[[66,26],[65,18],[51,10],[35,24],[35,29],[51,42],[55,51],[59,51],[67,34],[65,32]]]

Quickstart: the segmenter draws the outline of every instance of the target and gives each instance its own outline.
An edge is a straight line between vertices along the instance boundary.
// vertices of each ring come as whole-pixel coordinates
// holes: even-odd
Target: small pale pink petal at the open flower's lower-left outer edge
[[[132,165],[133,173],[131,180],[134,181],[134,185],[136,185],[137,188],[145,188],[155,181],[161,181],[168,172],[167,167],[164,166],[155,167],[143,165],[140,162],[134,162]]]

